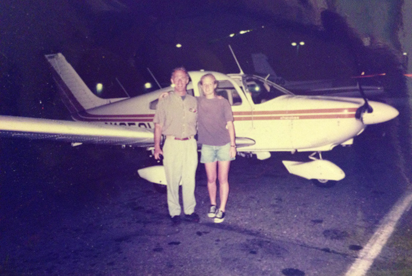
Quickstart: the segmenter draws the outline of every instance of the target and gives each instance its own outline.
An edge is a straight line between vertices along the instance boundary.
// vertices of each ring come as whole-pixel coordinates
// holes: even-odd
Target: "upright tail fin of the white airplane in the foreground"
[[[53,69],[62,101],[71,114],[123,99],[102,99],[94,95],[61,53],[45,57]]]

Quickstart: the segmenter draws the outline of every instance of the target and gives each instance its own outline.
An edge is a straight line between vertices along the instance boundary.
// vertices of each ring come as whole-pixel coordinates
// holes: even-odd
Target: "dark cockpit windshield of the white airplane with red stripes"
[[[249,92],[255,104],[264,103],[282,95],[293,95],[285,88],[258,76],[243,77],[245,91]]]

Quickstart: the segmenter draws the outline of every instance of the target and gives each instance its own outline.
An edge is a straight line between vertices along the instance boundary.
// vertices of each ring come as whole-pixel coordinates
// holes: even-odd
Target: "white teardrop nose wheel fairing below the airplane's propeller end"
[[[282,161],[288,172],[306,179],[322,179],[339,181],[345,173],[334,163],[318,159],[310,162]]]

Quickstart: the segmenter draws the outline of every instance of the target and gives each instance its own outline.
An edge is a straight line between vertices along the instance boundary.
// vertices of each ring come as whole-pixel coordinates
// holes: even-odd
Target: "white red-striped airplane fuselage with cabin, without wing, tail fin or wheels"
[[[188,93],[201,96],[198,83],[206,73],[189,72]],[[297,96],[257,76],[210,73],[219,81],[218,94],[232,105],[236,136],[255,142],[238,148],[239,151],[330,151],[337,145],[352,144],[352,138],[366,126],[355,117],[356,110],[364,104],[361,98]],[[91,108],[73,118],[153,129],[155,103],[165,91],[172,88]],[[378,115],[377,122],[397,115],[397,110],[389,105],[369,104],[378,105],[378,109],[383,105],[385,109],[386,114]],[[375,117],[379,112],[374,110]]]

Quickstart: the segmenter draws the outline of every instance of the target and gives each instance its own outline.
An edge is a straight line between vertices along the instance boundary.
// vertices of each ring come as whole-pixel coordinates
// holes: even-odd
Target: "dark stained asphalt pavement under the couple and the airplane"
[[[16,151],[7,156],[10,163],[2,163],[0,271],[344,275],[408,188],[399,173],[396,127],[396,120],[371,127],[353,147],[325,153],[347,175],[331,188],[289,175],[282,167],[282,159],[303,161],[306,153],[278,153],[265,161],[238,157],[221,224],[207,217],[206,179],[199,167],[200,223],[179,226],[171,225],[165,194],[136,174],[137,167],[151,162],[142,150],[4,140],[3,156]],[[410,237],[410,220],[402,221],[399,231]],[[411,250],[405,242],[394,246],[403,235],[394,236],[373,267],[390,267],[393,275],[398,270],[388,265],[399,261],[399,254],[407,259]],[[404,261],[401,268],[411,271],[412,265]]]

